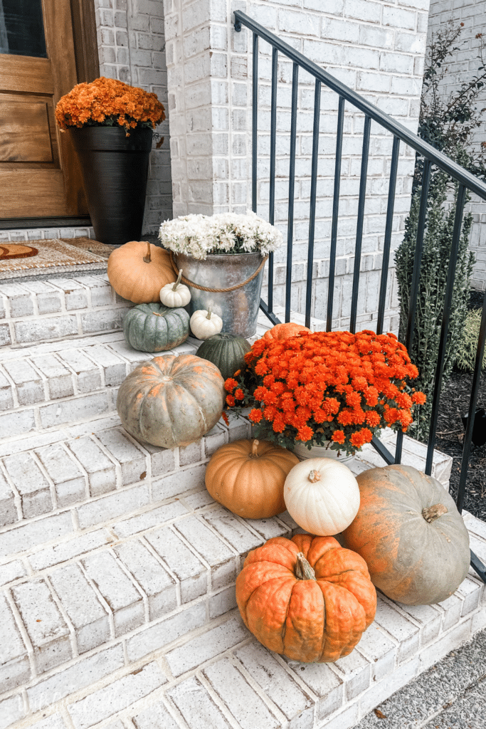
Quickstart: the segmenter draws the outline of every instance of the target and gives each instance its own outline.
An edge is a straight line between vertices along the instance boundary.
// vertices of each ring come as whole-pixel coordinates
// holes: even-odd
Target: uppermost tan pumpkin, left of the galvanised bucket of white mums
[[[108,259],[108,278],[119,296],[134,304],[160,302],[160,289],[176,281],[167,251],[147,241],[128,241]]]

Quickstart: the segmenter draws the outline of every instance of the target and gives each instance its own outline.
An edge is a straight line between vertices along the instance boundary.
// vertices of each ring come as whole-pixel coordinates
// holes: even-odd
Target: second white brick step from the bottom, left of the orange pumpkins
[[[107,645],[123,642],[133,662],[152,652],[153,631],[171,642],[174,631],[179,637],[235,607],[243,556],[297,525],[287,514],[236,518],[205,491],[203,470],[197,481],[177,472],[177,496],[155,484],[132,488],[117,494],[111,513],[98,499],[90,515],[60,512],[0,534],[4,690]]]

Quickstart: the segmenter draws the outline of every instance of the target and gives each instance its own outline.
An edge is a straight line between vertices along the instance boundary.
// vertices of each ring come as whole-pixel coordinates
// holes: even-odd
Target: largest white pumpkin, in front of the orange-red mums
[[[287,475],[283,500],[302,529],[319,537],[331,537],[346,529],[358,513],[358,481],[339,461],[307,459]]]

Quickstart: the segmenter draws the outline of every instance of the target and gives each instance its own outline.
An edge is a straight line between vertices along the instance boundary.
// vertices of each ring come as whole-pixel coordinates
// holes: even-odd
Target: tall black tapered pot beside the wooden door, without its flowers
[[[140,240],[152,129],[72,127],[95,237],[118,246]]]

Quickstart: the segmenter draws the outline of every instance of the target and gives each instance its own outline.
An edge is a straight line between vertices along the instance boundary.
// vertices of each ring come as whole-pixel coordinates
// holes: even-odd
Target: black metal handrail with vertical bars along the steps
[[[299,69],[305,69],[309,74],[315,77],[315,95],[314,95],[314,118],[313,118],[313,152],[312,152],[312,169],[310,175],[310,211],[309,211],[309,238],[307,246],[307,282],[305,296],[305,324],[310,324],[310,308],[312,293],[312,273],[313,273],[313,256],[314,256],[314,234],[315,234],[315,203],[317,199],[317,172],[318,172],[318,139],[319,139],[319,122],[321,113],[321,85],[324,84],[329,89],[339,95],[338,113],[337,113],[337,133],[336,133],[336,155],[334,168],[334,198],[332,206],[332,231],[331,231],[331,247],[329,261],[329,286],[327,297],[326,311],[326,329],[332,329],[332,308],[333,308],[333,292],[335,278],[335,262],[337,250],[337,222],[339,219],[339,198],[340,198],[340,175],[341,175],[341,157],[342,157],[342,136],[344,125],[345,102],[352,104],[356,109],[364,113],[364,132],[363,132],[363,148],[361,153],[361,175],[358,193],[358,214],[356,219],[356,245],[354,256],[353,270],[353,289],[351,292],[350,307],[350,331],[356,330],[356,318],[358,311],[358,289],[360,278],[361,264],[361,241],[364,225],[364,206],[367,198],[367,165],[369,155],[369,138],[371,122],[377,122],[380,127],[388,130],[393,135],[393,147],[391,153],[391,171],[388,187],[388,205],[385,222],[385,241],[383,245],[383,264],[380,277],[380,295],[377,313],[377,333],[383,331],[383,321],[385,312],[385,296],[388,281],[388,265],[391,251],[391,231],[393,222],[393,207],[396,192],[396,176],[399,161],[400,142],[404,142],[412,149],[415,149],[418,155],[423,157],[423,170],[420,192],[420,208],[418,214],[418,235],[415,247],[415,260],[412,275],[412,285],[410,290],[410,305],[407,319],[407,332],[405,337],[405,345],[410,351],[415,329],[415,313],[418,300],[418,286],[420,281],[420,262],[422,259],[424,232],[426,228],[426,212],[428,189],[431,180],[432,165],[436,165],[439,169],[447,173],[452,179],[458,183],[458,195],[455,201],[455,222],[452,233],[452,246],[450,253],[449,270],[447,273],[447,285],[444,295],[444,313],[442,318],[442,328],[439,341],[439,356],[436,364],[436,375],[434,381],[434,396],[432,401],[431,427],[428,437],[426,473],[431,475],[432,461],[434,457],[434,443],[436,437],[436,425],[439,411],[439,397],[442,389],[442,375],[444,369],[444,352],[447,342],[447,333],[450,321],[450,307],[452,303],[452,288],[455,277],[455,265],[458,256],[458,246],[460,242],[460,232],[463,219],[464,204],[466,201],[466,190],[479,195],[479,198],[486,200],[486,184],[477,179],[469,171],[450,160],[449,157],[439,152],[438,149],[432,147],[416,134],[404,127],[389,114],[385,114],[377,106],[373,106],[365,98],[362,98],[355,91],[350,89],[342,82],[338,81],[331,74],[321,69],[316,63],[310,61],[305,55],[295,50],[289,44],[284,42],[278,36],[275,36],[267,28],[264,28],[256,20],[246,15],[240,10],[235,10],[235,31],[241,31],[242,26],[246,26],[253,33],[253,106],[252,106],[252,164],[251,164],[251,181],[252,181],[252,209],[256,211],[257,195],[257,135],[258,135],[258,41],[262,38],[272,47],[272,86],[271,86],[271,111],[270,111],[270,205],[269,219],[270,223],[274,223],[275,218],[275,140],[277,133],[277,71],[278,71],[278,53],[281,52],[292,63],[292,93],[291,93],[291,130],[290,130],[290,153],[289,153],[289,210],[288,210],[288,226],[287,226],[287,252],[286,252],[286,298],[285,298],[285,320],[289,321],[291,311],[291,270],[292,270],[292,243],[294,235],[294,183],[295,183],[295,157],[296,157],[296,139],[297,139],[297,92],[299,82]],[[268,300],[264,303],[262,300],[260,308],[266,314],[273,324],[278,324],[278,319],[273,313],[273,255],[270,254],[268,261]],[[463,443],[463,459],[460,472],[460,482],[458,489],[457,504],[461,511],[463,507],[463,498],[466,488],[466,476],[469,464],[469,455],[471,451],[472,430],[474,425],[474,413],[477,405],[477,394],[479,391],[479,375],[481,372],[482,356],[485,349],[486,341],[486,292],[483,302],[482,322],[479,330],[479,340],[477,346],[477,357],[474,369],[473,385],[471,389],[471,399],[469,402],[469,418],[466,426],[466,434]],[[403,435],[401,432],[396,436],[395,453],[392,455],[376,438],[372,440],[372,445],[386,463],[401,462],[401,448]],[[486,581],[485,566],[481,564],[474,553],[471,553],[471,566],[476,570],[479,577]]]

